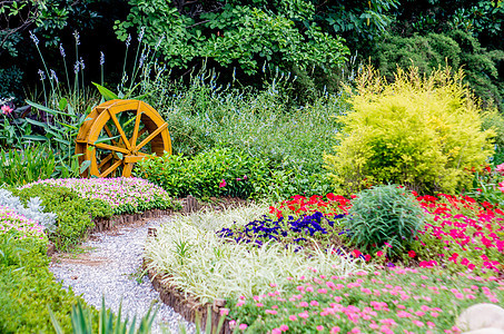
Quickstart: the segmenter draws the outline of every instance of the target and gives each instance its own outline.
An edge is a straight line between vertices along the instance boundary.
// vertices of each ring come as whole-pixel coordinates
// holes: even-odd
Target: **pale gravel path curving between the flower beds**
[[[105,296],[106,307],[117,313],[122,299],[122,318],[137,316],[138,321],[151,303],[156,303],[160,307],[152,333],[178,333],[182,317],[160,301],[149,278],[141,276],[140,267],[147,228],[159,226],[165,219],[169,218],[96,233],[82,244],[82,248],[90,249],[89,253],[59,255],[50,271],[66,287],[71,286],[77,295],[82,294],[83,299],[97,308],[101,308],[101,297]],[[194,333],[192,325],[190,328],[188,333]]]

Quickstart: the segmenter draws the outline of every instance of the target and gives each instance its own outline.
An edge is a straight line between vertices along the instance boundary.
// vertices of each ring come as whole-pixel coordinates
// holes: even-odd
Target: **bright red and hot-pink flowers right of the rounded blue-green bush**
[[[504,212],[468,196],[417,197],[429,213],[421,232],[421,266],[500,275],[504,269]]]

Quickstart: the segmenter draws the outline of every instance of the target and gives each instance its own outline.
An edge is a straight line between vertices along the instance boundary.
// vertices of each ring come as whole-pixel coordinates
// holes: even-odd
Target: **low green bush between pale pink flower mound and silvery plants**
[[[56,232],[49,235],[58,249],[78,244],[93,226],[92,218],[112,215],[112,208],[103,200],[81,198],[77,191],[65,187],[34,185],[21,190],[13,189],[12,194],[23,203],[31,197],[39,197],[45,212],[58,216]]]

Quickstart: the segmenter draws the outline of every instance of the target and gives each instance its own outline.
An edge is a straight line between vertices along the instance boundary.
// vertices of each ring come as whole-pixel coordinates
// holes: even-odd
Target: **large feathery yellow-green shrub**
[[[392,84],[372,67],[357,78],[354,111],[339,116],[335,155],[326,167],[339,190],[396,183],[419,191],[454,191],[493,154],[493,130],[481,129],[480,107],[464,75],[439,68],[428,77],[397,70]]]

